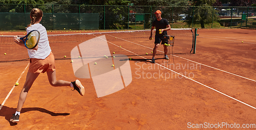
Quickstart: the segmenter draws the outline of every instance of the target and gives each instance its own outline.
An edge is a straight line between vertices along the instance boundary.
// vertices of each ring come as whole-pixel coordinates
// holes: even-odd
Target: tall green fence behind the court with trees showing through
[[[255,7],[0,4],[0,30],[25,30],[33,8],[44,12],[47,30],[150,29],[156,10],[172,28],[256,28]]]

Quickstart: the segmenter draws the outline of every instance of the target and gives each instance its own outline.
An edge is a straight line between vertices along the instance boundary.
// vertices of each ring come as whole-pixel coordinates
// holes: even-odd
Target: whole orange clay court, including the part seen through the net
[[[3,31],[1,128],[255,128],[256,30],[198,29],[196,46],[195,29],[189,31],[186,36],[190,38],[186,39],[180,38],[185,32],[170,30],[168,34],[175,37],[173,46],[168,47],[169,60],[163,58],[161,46],[156,63],[151,62],[154,40],[148,39],[150,30],[80,30],[66,34],[49,31],[56,78],[79,79],[86,93],[80,96],[69,87],[51,86],[47,75],[40,74],[28,93],[18,123],[9,120],[16,111],[30,60],[26,49],[7,38],[24,32]],[[189,40],[187,45],[185,40]],[[99,50],[103,46],[109,50]],[[74,48],[79,50],[79,56],[71,53]],[[93,51],[97,49],[98,52]],[[78,61],[87,67],[84,73],[89,77],[77,77],[74,66]],[[124,68],[125,64],[130,70]],[[107,74],[110,72],[113,74]],[[97,83],[110,88],[99,89]]]

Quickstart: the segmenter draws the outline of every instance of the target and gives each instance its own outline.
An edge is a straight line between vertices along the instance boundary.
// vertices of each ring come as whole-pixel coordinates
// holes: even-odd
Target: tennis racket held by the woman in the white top
[[[24,37],[17,37],[18,40],[23,40],[25,47],[27,49],[34,49],[40,39],[40,33],[37,30],[30,31],[26,36]],[[25,39],[25,40],[24,40]]]

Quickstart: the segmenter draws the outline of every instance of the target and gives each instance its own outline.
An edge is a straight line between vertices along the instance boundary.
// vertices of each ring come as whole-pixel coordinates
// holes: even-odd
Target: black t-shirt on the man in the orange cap
[[[163,31],[162,34],[159,34],[159,29],[165,29],[166,26],[169,25],[167,19],[162,18],[160,21],[159,20],[154,20],[152,26],[156,28],[156,35],[158,36],[163,36],[167,35],[167,31]]]

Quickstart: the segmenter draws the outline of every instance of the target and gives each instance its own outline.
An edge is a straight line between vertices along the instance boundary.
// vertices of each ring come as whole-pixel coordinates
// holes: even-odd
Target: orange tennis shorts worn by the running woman
[[[30,73],[45,73],[47,71],[55,71],[55,60],[52,52],[45,59],[30,58]]]

